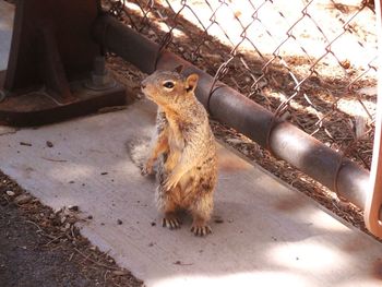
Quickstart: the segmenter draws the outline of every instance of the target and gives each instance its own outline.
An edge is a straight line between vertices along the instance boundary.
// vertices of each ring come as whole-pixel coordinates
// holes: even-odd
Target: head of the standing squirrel
[[[181,75],[178,71],[156,71],[142,81],[142,92],[163,107],[170,107],[194,98],[198,74]]]

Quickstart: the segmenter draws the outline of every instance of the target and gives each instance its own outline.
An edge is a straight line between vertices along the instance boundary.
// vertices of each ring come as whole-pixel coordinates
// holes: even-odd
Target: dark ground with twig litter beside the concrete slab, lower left
[[[55,213],[0,171],[0,286],[144,286],[80,236],[80,217],[76,206]]]

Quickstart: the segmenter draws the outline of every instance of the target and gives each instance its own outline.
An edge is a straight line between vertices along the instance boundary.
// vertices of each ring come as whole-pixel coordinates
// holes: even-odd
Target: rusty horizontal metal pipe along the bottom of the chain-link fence
[[[97,19],[95,26],[94,36],[98,43],[134,63],[143,72],[152,73],[155,69],[172,70],[183,64],[186,74],[198,73],[200,81],[196,96],[215,119],[243,133],[268,148],[276,157],[288,162],[341,196],[365,208],[369,171],[343,158],[341,154],[291,123],[274,120],[272,112],[220,82],[210,94],[213,84],[210,74],[172,52],[160,53],[157,44],[111,16]],[[99,33],[103,31],[106,34]]]

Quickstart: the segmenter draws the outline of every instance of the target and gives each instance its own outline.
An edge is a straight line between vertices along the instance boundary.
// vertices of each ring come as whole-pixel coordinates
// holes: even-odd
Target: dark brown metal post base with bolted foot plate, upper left
[[[2,123],[34,125],[124,104],[119,84],[84,85],[102,55],[91,34],[99,12],[97,0],[16,2],[8,70],[0,75]]]

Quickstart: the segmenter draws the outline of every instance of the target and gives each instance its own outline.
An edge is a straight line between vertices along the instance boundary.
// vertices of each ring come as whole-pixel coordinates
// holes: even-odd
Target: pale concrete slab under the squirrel
[[[381,286],[378,241],[225,148],[230,168],[220,171],[214,212],[224,223],[213,222],[214,234],[202,239],[188,230],[190,220],[177,231],[160,227],[155,182],[141,177],[126,148],[153,124],[153,106],[140,101],[5,133],[0,169],[53,208],[79,205],[93,215],[82,234],[147,286]]]

